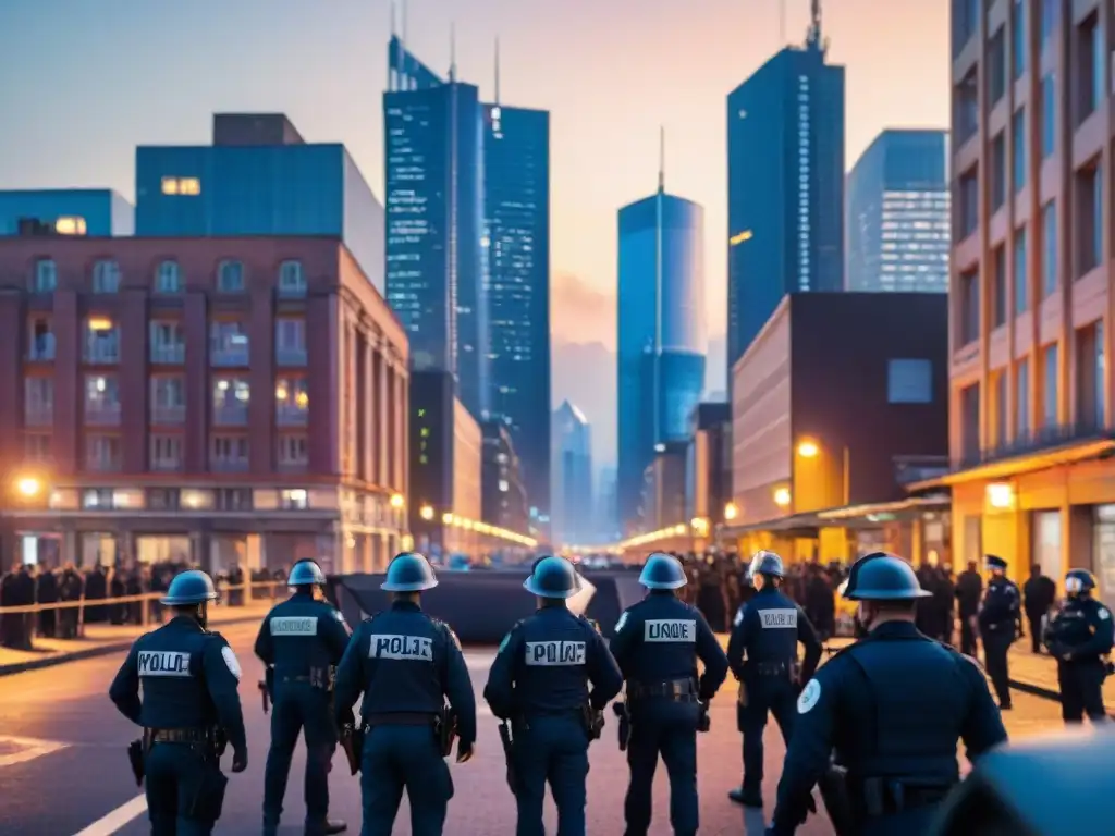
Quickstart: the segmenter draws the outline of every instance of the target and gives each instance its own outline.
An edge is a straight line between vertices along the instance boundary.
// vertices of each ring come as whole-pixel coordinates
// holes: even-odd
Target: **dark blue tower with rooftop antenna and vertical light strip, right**
[[[728,94],[728,369],[787,293],[844,286],[844,68],[818,0],[787,47]]]

